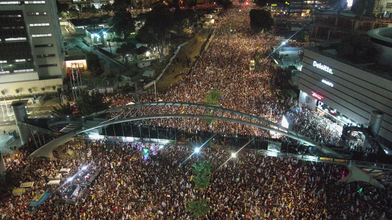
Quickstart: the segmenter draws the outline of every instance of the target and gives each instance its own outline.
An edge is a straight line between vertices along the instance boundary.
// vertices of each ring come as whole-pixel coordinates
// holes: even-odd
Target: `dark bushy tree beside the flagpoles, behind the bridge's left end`
[[[86,92],[78,97],[75,101],[76,112],[82,115],[93,114],[109,108],[107,103],[103,102],[103,95],[99,92],[93,93],[91,96]]]

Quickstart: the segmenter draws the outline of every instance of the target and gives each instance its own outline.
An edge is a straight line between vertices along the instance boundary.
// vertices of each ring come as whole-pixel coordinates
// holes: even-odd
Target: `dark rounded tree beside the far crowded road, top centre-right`
[[[256,33],[260,33],[263,29],[270,29],[274,25],[274,19],[271,13],[264,9],[252,9],[249,12],[250,27]]]

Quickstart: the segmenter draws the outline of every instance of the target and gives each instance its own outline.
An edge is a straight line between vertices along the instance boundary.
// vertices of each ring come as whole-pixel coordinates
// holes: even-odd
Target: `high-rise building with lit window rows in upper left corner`
[[[0,5],[0,90],[7,96],[62,85],[65,52],[56,1]]]

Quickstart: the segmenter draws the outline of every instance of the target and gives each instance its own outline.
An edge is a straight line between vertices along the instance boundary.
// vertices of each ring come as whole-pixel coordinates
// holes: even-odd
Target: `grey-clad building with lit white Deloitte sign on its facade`
[[[389,52],[377,53],[379,63],[356,62],[338,56],[334,45],[305,49],[299,80],[299,101],[342,124],[367,125],[372,111],[383,112],[379,138],[385,146],[392,142],[392,28],[379,32],[389,35],[385,43],[374,37]],[[377,32],[378,33],[378,32]],[[370,34],[369,34],[370,35]],[[380,38],[383,39],[383,38]],[[388,43],[388,40],[390,41]],[[380,43],[381,42],[381,43]],[[376,45],[372,45],[376,47]],[[388,59],[387,62],[386,59]]]

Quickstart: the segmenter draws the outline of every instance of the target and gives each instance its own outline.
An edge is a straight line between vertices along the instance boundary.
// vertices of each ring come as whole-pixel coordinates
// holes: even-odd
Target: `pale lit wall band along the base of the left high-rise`
[[[62,79],[45,79],[45,80],[35,80],[35,81],[24,81],[18,83],[4,83],[0,84],[0,90],[5,91],[5,96],[19,96],[30,94],[27,90],[28,88],[33,88],[34,93],[42,93],[41,88],[45,87],[46,91],[53,91],[52,86],[56,85],[59,88],[62,85]],[[20,92],[17,94],[15,89],[19,89]],[[0,94],[1,97],[5,97]]]

